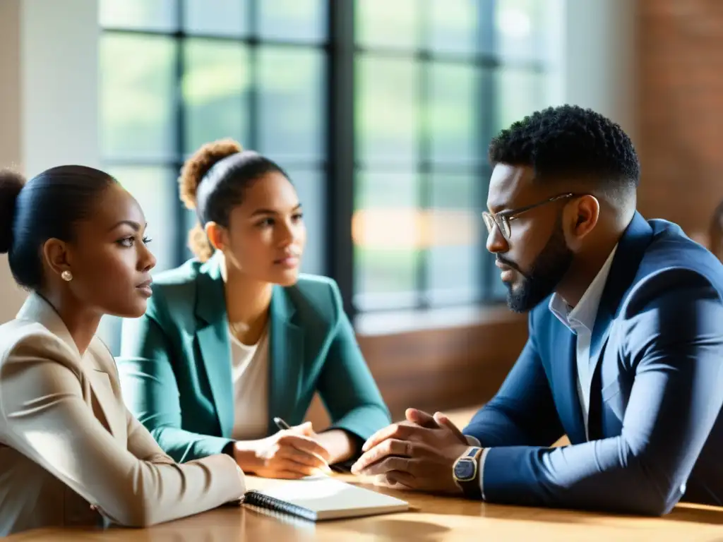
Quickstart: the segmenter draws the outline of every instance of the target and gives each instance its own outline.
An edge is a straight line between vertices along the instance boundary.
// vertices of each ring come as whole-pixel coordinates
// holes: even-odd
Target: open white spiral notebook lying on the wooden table
[[[309,521],[404,512],[409,504],[393,496],[353,486],[329,476],[267,480],[247,491],[244,504],[299,516]]]

